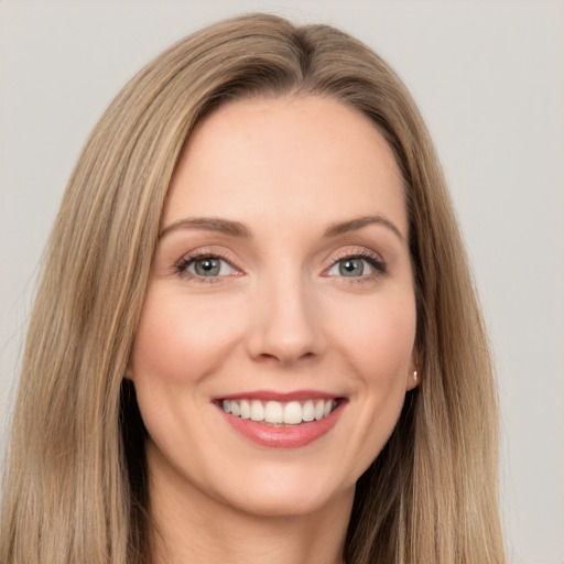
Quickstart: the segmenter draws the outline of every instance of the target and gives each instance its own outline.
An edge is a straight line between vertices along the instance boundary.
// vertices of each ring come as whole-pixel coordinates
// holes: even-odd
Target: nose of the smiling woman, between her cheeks
[[[247,338],[251,358],[290,366],[319,356],[324,337],[321,308],[315,302],[299,275],[279,275],[260,284]]]

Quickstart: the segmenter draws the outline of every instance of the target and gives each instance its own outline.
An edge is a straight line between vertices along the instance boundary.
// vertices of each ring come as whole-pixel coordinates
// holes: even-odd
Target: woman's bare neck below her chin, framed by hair
[[[150,480],[155,564],[341,564],[354,490],[307,514],[252,514],[193,485]]]

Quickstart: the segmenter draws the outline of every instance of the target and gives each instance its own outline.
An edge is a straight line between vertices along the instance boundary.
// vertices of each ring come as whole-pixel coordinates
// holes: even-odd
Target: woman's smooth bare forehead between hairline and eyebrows
[[[243,223],[270,217],[283,225],[375,213],[405,235],[402,184],[381,133],[343,102],[317,96],[238,100],[192,133],[163,225],[202,215]]]

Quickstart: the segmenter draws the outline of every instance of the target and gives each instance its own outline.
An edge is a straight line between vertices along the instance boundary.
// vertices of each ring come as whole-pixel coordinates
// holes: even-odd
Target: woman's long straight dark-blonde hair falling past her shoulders
[[[3,486],[2,563],[150,562],[144,429],[123,383],[169,183],[229,100],[300,93],[357,108],[401,169],[422,381],[359,479],[349,564],[505,562],[496,391],[433,144],[405,87],[326,25],[253,14],[171,47],[117,96],[70,177],[35,301]]]

